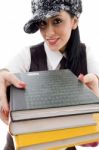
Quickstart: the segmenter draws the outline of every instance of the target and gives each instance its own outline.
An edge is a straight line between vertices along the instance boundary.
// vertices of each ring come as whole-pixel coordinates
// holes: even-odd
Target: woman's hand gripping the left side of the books
[[[14,85],[17,88],[25,88],[26,84],[20,81],[14,74],[7,70],[0,71],[0,118],[8,124],[9,105],[7,100],[7,87]]]

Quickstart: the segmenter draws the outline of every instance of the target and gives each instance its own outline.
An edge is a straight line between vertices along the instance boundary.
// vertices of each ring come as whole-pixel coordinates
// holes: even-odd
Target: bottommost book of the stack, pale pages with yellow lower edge
[[[99,133],[93,133],[54,142],[34,144],[26,147],[17,148],[17,150],[63,150],[66,149],[66,147],[72,147],[74,145],[82,145],[96,141],[99,141]]]

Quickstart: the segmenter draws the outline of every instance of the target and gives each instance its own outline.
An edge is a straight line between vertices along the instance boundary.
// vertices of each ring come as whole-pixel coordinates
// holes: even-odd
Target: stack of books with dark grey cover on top
[[[68,69],[16,74],[9,131],[18,150],[56,150],[99,140],[99,98]]]

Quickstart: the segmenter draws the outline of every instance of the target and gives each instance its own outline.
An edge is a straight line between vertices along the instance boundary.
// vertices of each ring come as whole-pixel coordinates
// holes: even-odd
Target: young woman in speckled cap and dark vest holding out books
[[[32,0],[31,6],[33,18],[25,24],[24,31],[35,33],[40,29],[44,42],[23,50],[6,69],[0,71],[0,116],[6,123],[9,113],[6,88],[11,84],[18,88],[26,86],[12,72],[68,68],[99,96],[99,69],[96,67],[99,64],[80,41],[78,21],[82,12],[81,0]],[[63,56],[65,65],[61,66]],[[14,150],[9,134],[7,138],[5,150]]]

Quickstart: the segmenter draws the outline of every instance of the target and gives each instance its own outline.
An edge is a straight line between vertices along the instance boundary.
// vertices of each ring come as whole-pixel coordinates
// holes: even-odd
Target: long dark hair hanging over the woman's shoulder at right
[[[72,30],[66,46],[67,67],[78,76],[87,74],[86,46],[80,42],[78,27]]]

